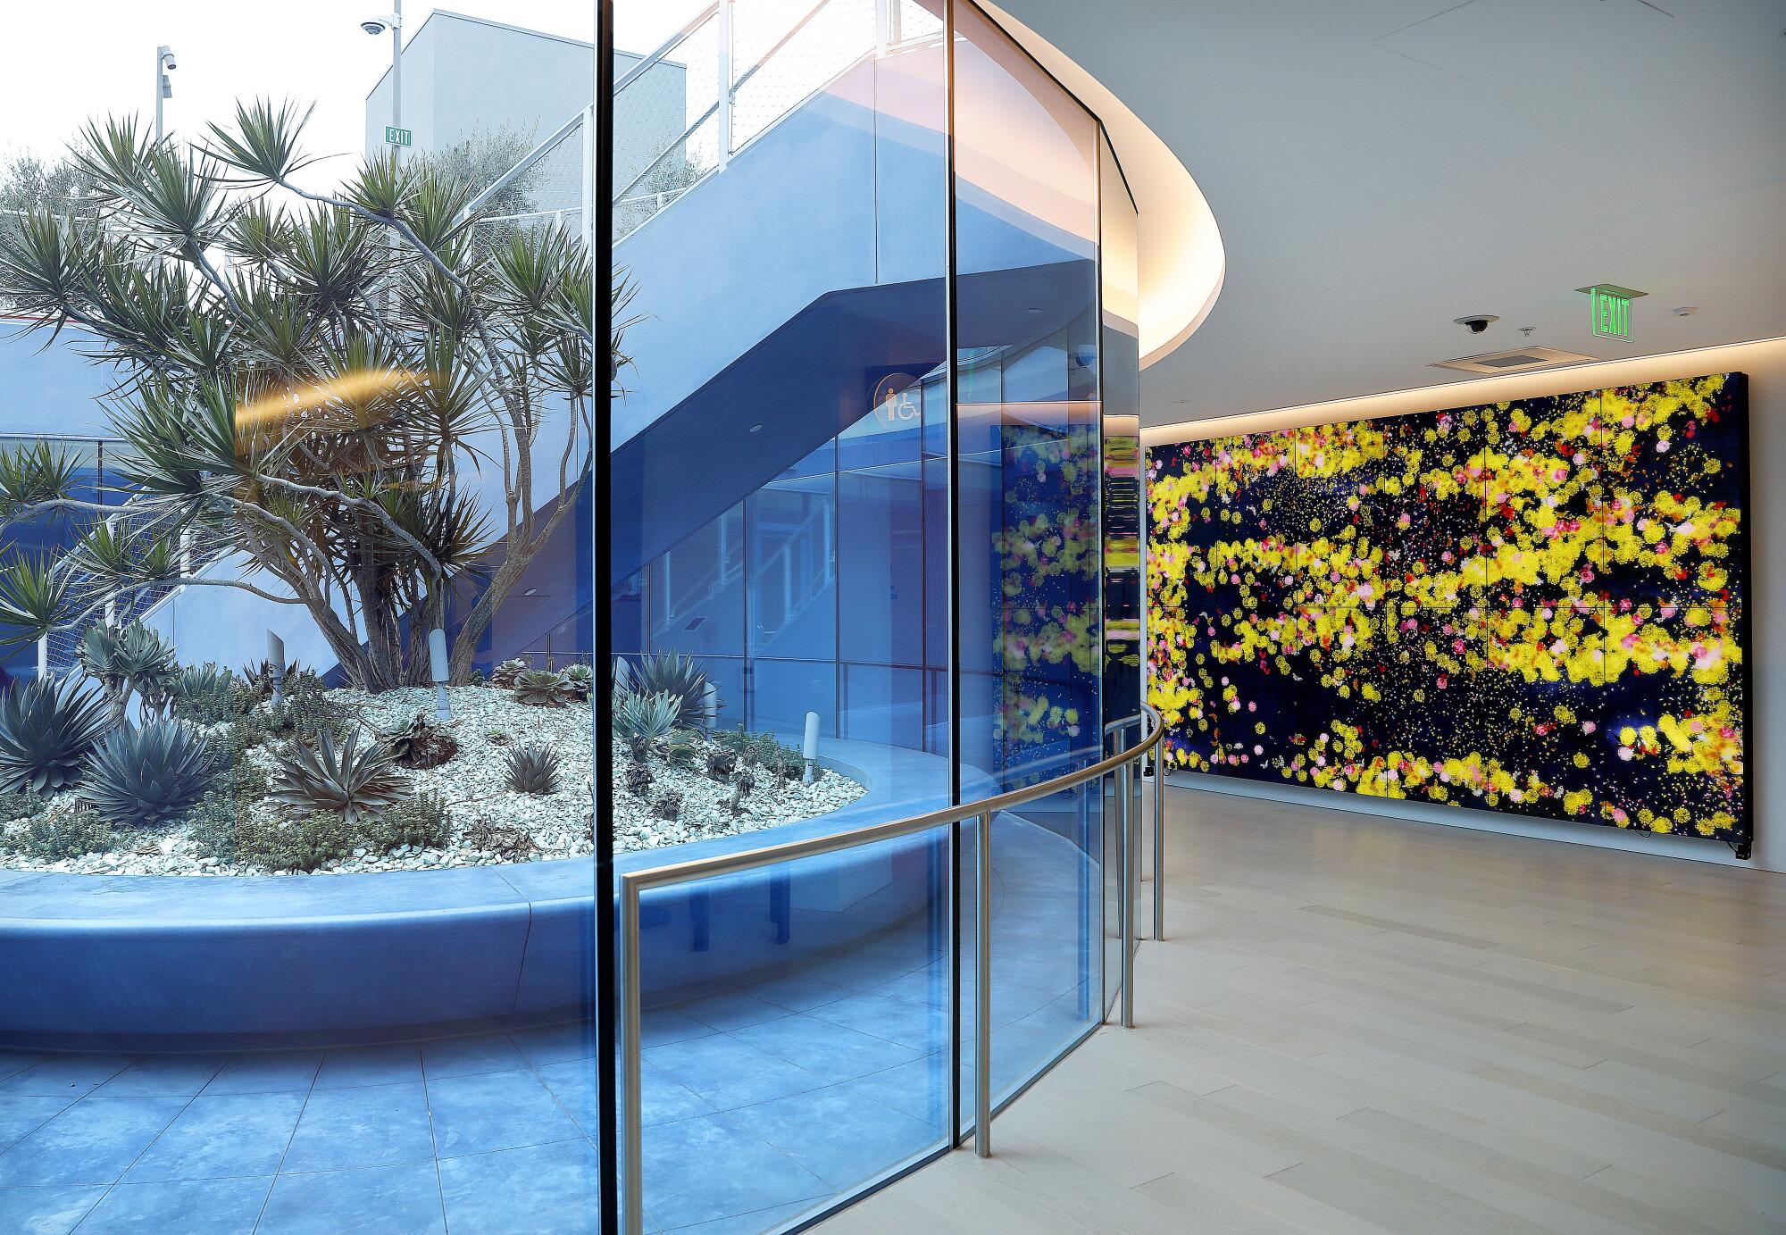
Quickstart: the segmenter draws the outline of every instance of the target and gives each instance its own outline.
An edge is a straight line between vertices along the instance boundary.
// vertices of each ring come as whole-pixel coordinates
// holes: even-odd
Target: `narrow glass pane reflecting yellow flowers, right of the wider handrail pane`
[[[1100,136],[977,9],[956,30],[961,758],[984,796],[1102,758]],[[1102,1019],[1100,807],[993,821],[995,1099]]]

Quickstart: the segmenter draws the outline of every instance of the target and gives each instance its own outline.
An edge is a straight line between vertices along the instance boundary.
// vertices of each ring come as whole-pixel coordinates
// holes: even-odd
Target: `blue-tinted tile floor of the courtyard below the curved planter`
[[[995,914],[998,1085],[1095,1017],[1077,914],[1011,894],[1045,874],[1027,866],[1004,871]],[[770,1230],[941,1144],[945,992],[913,923],[652,1008],[650,1230]],[[0,1231],[595,1230],[591,1057],[582,1024],[330,1051],[0,1053]]]

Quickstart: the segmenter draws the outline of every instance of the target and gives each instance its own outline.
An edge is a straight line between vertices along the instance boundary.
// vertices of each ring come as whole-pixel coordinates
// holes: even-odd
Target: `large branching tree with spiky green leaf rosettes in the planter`
[[[302,607],[366,689],[452,680],[588,484],[598,373],[586,245],[479,239],[452,161],[364,162],[302,187],[309,112],[254,102],[189,146],[132,120],[71,150],[96,209],[0,228],[0,298],[27,330],[79,325],[109,366],[123,507],[73,496],[52,448],[0,452],[0,521],[91,519],[57,560],[0,568],[0,621],[36,639],[170,584]],[[616,280],[616,305],[627,291]],[[604,443],[605,446],[605,443]],[[191,569],[234,551],[239,571]]]

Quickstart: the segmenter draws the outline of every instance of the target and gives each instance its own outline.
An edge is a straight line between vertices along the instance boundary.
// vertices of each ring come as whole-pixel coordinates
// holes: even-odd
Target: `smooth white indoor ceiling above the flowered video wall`
[[[1150,425],[1466,380],[1427,366],[1523,343],[1786,336],[1786,0],[1000,4],[1220,225],[1222,294],[1143,373]],[[1591,336],[1595,282],[1650,293],[1631,343]],[[1452,323],[1475,312],[1500,321]]]

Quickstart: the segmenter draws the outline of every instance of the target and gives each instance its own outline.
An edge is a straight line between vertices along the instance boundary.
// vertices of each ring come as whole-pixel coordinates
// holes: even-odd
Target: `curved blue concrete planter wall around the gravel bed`
[[[625,869],[820,835],[941,805],[947,762],[834,741],[868,792],[814,819]],[[647,901],[643,985],[736,978],[827,953],[929,903],[923,837]],[[225,1048],[357,1042],[557,1019],[588,1007],[593,862],[371,874],[150,876],[0,871],[0,1044]]]

